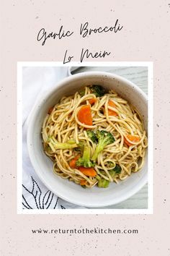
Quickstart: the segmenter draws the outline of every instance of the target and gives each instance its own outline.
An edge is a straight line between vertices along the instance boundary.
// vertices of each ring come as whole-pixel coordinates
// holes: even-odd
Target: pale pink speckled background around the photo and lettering
[[[169,84],[170,1],[1,1],[1,251],[7,255],[170,255],[169,245]],[[92,27],[124,29],[82,40],[37,43],[45,26],[78,31]],[[17,61],[63,61],[67,48],[79,60],[81,47],[112,51],[105,61],[153,61],[154,65],[154,213],[153,215],[17,215]],[[101,59],[103,61],[103,59]],[[99,59],[98,59],[99,61]],[[138,229],[138,235],[35,235],[36,228],[86,226]]]

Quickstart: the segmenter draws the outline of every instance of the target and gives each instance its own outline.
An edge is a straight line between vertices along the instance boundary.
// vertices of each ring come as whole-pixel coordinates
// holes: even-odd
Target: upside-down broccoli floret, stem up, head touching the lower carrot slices
[[[90,148],[88,145],[84,145],[84,153],[81,158],[76,161],[76,166],[94,167],[95,163],[90,160]]]

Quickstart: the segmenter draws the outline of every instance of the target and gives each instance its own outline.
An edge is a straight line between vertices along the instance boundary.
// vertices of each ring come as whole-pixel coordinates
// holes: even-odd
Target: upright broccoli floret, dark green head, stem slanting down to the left
[[[92,156],[91,160],[96,161],[99,153],[104,150],[104,147],[112,144],[115,142],[115,138],[113,137],[112,133],[107,132],[107,131],[97,131],[97,139],[98,139],[98,144],[97,148],[94,151],[94,155]]]

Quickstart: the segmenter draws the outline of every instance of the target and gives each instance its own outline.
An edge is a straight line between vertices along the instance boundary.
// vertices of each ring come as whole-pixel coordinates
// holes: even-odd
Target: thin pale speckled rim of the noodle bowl
[[[27,149],[28,149],[28,153],[29,153],[29,157],[30,157],[30,161],[32,163],[32,167],[35,170],[35,173],[37,174],[37,176],[40,178],[41,182],[43,184],[45,184],[45,187],[48,187],[48,189],[50,189],[51,192],[53,192],[55,195],[57,195],[58,197],[61,197],[61,199],[66,200],[67,202],[71,202],[75,205],[80,205],[80,206],[84,206],[84,207],[89,207],[89,208],[99,208],[99,207],[106,207],[109,205],[115,205],[117,203],[120,203],[124,200],[127,200],[128,198],[132,197],[133,195],[135,195],[148,181],[148,171],[146,173],[146,175],[143,176],[143,178],[140,179],[140,182],[138,183],[138,186],[135,185],[133,187],[133,189],[130,189],[125,195],[122,195],[121,197],[118,198],[110,198],[109,200],[107,200],[107,202],[101,202],[101,203],[86,203],[86,202],[77,202],[76,200],[73,200],[72,198],[66,197],[64,195],[61,194],[61,192],[56,192],[55,189],[53,189],[53,187],[51,187],[51,184],[49,184],[48,182],[46,182],[45,177],[40,173],[40,171],[38,171],[37,169],[37,163],[35,163],[33,155],[32,155],[32,146],[30,145],[30,141],[31,141],[31,137],[32,137],[32,121],[35,119],[35,116],[37,114],[38,111],[38,106],[40,106],[45,99],[47,99],[53,92],[55,92],[56,90],[58,90],[58,88],[61,88],[63,86],[64,83],[67,83],[68,81],[71,80],[75,80],[75,78],[79,78],[79,77],[86,77],[86,76],[106,76],[109,78],[115,78],[117,80],[120,80],[121,82],[125,82],[126,85],[128,85],[130,88],[133,87],[135,89],[135,91],[137,90],[138,93],[140,93],[140,95],[143,97],[145,103],[148,106],[148,96],[146,95],[146,93],[143,92],[143,90],[141,90],[137,85],[135,85],[133,82],[131,82],[130,80],[126,79],[125,77],[121,77],[120,75],[117,74],[113,74],[113,73],[109,73],[109,72],[99,72],[99,71],[89,71],[89,72],[82,72],[79,74],[73,74],[69,77],[65,77],[62,80],[56,82],[56,85],[53,86],[53,88],[49,88],[48,91],[45,91],[42,93],[42,95],[40,96],[40,98],[38,98],[38,100],[35,102],[35,105],[32,107],[32,110],[30,111],[29,116],[27,117],[27,121],[28,121],[28,127],[27,127]]]

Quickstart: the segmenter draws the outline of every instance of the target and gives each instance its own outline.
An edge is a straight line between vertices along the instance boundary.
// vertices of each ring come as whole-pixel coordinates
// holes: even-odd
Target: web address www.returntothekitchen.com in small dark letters
[[[32,234],[138,234],[138,229],[32,229]]]

